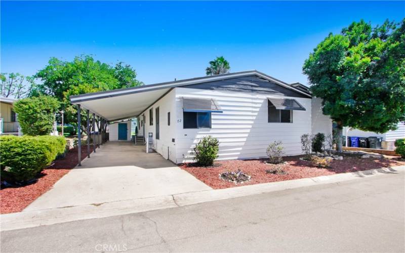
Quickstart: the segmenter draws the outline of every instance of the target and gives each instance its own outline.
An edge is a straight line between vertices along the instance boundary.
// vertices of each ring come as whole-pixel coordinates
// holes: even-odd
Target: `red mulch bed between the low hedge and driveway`
[[[90,152],[93,151],[93,147]],[[36,198],[47,192],[52,186],[77,165],[77,149],[70,149],[66,156],[55,160],[38,175],[38,181],[31,185],[0,190],[0,214],[21,212]],[[82,160],[87,156],[87,148],[82,147]]]

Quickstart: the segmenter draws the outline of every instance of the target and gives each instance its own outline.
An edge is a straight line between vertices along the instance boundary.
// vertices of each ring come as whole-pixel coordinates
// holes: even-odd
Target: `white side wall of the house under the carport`
[[[145,114],[145,140],[148,133],[153,133],[153,149],[166,159],[176,162],[176,96],[175,90],[172,90],[159,101],[148,107],[139,116],[139,122],[142,115]],[[156,108],[159,107],[159,140],[156,140]],[[149,109],[153,108],[153,125],[149,125]],[[168,112],[170,112],[170,125],[168,125]],[[140,127],[139,133],[143,134],[143,128]],[[175,142],[172,142],[175,139]],[[168,150],[169,147],[169,150]]]

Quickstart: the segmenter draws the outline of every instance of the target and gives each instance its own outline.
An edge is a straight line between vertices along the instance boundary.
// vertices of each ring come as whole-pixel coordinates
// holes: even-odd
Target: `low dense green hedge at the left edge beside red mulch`
[[[66,140],[56,136],[0,136],[2,180],[28,181],[65,151]]]

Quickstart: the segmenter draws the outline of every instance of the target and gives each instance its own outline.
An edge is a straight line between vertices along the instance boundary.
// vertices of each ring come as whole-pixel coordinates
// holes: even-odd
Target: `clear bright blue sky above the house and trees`
[[[302,64],[329,32],[352,21],[405,17],[405,2],[1,1],[1,71],[32,75],[50,57],[92,54],[132,65],[146,84],[257,69],[307,83]]]

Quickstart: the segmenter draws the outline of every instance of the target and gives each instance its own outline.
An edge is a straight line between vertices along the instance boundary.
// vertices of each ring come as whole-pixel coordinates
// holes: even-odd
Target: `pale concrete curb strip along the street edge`
[[[274,183],[247,185],[219,190],[187,192],[150,198],[140,198],[99,204],[79,205],[64,208],[32,210],[27,212],[4,214],[0,216],[0,231],[52,225],[77,220],[87,220],[140,213],[146,212],[148,210],[186,206],[201,202],[244,197],[254,194],[282,191],[320,184],[331,184],[403,171],[405,171],[405,165],[354,173],[336,174],[331,176],[320,176],[315,178],[304,178]]]

